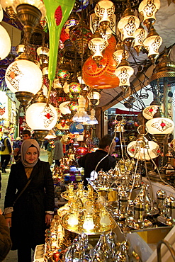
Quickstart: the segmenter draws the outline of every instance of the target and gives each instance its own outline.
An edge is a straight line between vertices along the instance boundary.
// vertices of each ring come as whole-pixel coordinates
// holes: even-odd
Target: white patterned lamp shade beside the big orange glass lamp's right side
[[[134,69],[129,65],[120,66],[120,64],[115,70],[115,74],[119,79],[119,86],[130,86],[130,76],[134,74]]]

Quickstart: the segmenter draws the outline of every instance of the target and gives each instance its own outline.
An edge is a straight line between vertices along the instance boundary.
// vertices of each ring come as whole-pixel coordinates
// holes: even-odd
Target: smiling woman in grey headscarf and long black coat
[[[30,262],[31,249],[45,243],[45,229],[55,206],[50,165],[39,156],[38,142],[26,139],[21,146],[21,161],[11,166],[6,188],[4,213],[11,227],[12,249],[18,249],[18,262]]]

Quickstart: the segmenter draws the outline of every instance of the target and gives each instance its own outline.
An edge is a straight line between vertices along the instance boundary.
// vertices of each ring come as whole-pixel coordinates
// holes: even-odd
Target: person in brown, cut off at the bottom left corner
[[[7,254],[11,250],[11,237],[9,227],[6,225],[4,215],[0,209],[0,262],[4,261]]]

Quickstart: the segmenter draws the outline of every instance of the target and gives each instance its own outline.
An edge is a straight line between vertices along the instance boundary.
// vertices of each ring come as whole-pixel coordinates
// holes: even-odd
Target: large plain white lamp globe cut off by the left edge
[[[3,60],[11,51],[11,38],[2,25],[0,25],[0,35],[0,60]]]

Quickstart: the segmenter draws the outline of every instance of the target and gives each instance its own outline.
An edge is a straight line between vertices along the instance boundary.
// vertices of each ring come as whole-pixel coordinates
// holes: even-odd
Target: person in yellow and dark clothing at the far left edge
[[[2,139],[4,139],[4,146],[5,146],[5,150],[4,151],[0,151],[1,154],[1,171],[2,173],[6,173],[6,166],[8,166],[9,161],[11,159],[11,152],[12,152],[12,148],[11,148],[11,142],[9,139],[9,131],[4,131]]]

